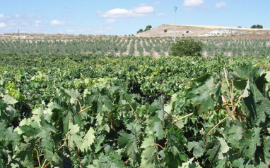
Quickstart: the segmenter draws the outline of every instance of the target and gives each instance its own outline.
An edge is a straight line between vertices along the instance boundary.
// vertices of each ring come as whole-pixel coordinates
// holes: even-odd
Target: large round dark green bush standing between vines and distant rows
[[[201,49],[204,44],[193,39],[183,39],[172,44],[170,47],[171,56],[201,56]]]

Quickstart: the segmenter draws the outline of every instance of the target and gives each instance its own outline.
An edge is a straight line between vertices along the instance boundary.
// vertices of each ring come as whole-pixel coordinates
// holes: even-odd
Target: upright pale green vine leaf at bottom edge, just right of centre
[[[158,148],[153,136],[144,138],[141,148],[144,149],[141,153],[141,167],[155,167],[158,164]]]

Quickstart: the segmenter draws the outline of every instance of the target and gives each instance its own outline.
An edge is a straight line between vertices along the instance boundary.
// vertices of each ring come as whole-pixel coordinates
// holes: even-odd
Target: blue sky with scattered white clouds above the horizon
[[[147,25],[270,28],[269,0],[10,0],[0,6],[0,33],[136,34]]]

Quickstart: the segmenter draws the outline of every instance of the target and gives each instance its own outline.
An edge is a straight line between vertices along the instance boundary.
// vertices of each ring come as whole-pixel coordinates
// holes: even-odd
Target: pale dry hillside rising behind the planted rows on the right
[[[176,31],[175,31],[176,28]],[[165,32],[164,30],[167,30]],[[160,25],[152,30],[136,34],[136,37],[270,37],[270,29],[250,29],[205,25]]]

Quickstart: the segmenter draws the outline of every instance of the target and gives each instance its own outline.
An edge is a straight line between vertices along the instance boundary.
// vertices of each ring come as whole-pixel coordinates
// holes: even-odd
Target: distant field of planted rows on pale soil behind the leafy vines
[[[234,37],[233,37],[234,38]],[[237,37],[236,37],[237,38]],[[177,40],[181,40],[177,38]],[[117,56],[168,56],[170,37],[81,37],[66,39],[2,39],[0,52],[16,53],[99,53]],[[196,39],[204,43],[201,56],[270,55],[270,39]]]

